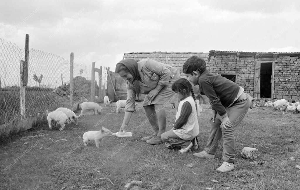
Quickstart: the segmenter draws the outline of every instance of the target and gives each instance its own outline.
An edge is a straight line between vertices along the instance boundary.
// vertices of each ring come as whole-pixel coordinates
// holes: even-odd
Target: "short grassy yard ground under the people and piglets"
[[[168,129],[175,112],[167,109]],[[249,110],[236,131],[236,168],[229,173],[215,171],[223,162],[222,146],[217,158],[205,160],[194,157],[193,152],[181,154],[163,144],[153,146],[141,141],[152,131],[149,123],[142,124],[146,116],[140,105],[127,129],[133,137],[108,137],[100,148],[95,142],[83,146],[78,135],[101,126],[119,131],[123,116],[124,113],[115,113],[114,107],[105,107],[102,115],[86,115],[79,125],[67,125],[61,132],[49,130],[44,124],[11,137],[0,145],[0,189],[117,190],[134,179],[143,181],[143,189],[153,190],[300,189],[300,170],[295,168],[300,165],[300,114],[283,114],[271,108]],[[200,147],[196,152],[207,140],[209,117],[210,110],[199,116]],[[35,137],[21,140],[28,136]],[[258,165],[241,158],[240,151],[245,146],[259,149]]]

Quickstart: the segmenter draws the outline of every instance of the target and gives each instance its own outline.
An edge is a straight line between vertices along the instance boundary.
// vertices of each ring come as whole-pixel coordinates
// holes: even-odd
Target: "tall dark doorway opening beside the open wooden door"
[[[260,63],[260,97],[271,98],[272,63]]]

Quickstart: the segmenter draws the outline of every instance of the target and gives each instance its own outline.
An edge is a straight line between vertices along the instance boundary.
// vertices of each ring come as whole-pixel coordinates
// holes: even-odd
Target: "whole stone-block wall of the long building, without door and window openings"
[[[137,61],[150,58],[169,64],[182,74],[183,63],[191,56],[202,57],[207,69],[218,74],[236,74],[236,83],[245,89],[245,92],[254,95],[254,66],[258,61],[274,61],[274,96],[300,101],[300,53],[256,53],[256,52],[229,52],[211,50],[202,52],[131,52],[125,53],[125,58]],[[290,97],[286,88],[286,79],[291,88]]]

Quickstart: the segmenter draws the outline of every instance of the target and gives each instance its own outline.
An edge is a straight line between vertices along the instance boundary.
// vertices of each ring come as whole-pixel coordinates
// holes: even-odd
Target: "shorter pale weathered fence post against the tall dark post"
[[[25,76],[24,74],[26,73],[26,69],[27,69],[27,73],[28,73],[28,67],[26,67],[26,63],[24,61],[20,61],[20,115],[21,115],[21,119],[25,119],[25,86],[24,86],[24,80],[25,80]],[[27,80],[27,79],[26,79]]]

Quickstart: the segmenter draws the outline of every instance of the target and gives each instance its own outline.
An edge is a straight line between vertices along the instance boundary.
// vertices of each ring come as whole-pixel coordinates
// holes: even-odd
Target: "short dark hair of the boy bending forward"
[[[206,70],[206,63],[203,58],[191,56],[183,64],[183,73],[192,74],[193,71],[199,71],[202,74]]]

